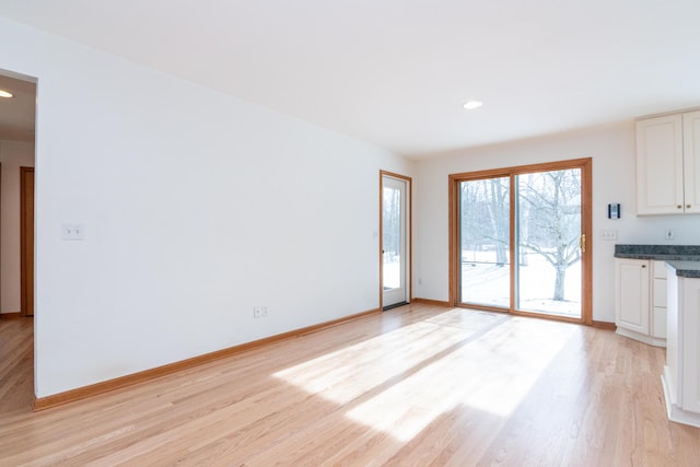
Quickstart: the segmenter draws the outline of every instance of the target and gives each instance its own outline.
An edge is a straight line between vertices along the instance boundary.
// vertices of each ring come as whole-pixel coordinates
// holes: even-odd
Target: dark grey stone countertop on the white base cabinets
[[[615,257],[666,261],[676,276],[700,278],[700,245],[615,245]]]

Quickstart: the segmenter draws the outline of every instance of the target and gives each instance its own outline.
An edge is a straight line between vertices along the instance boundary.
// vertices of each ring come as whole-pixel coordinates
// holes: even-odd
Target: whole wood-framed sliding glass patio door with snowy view
[[[451,303],[591,324],[591,160],[450,177]]]

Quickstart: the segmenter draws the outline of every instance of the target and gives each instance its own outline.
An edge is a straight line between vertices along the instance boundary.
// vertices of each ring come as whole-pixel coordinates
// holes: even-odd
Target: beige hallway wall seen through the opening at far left
[[[20,295],[20,167],[34,166],[34,143],[0,140],[0,313],[18,313]]]

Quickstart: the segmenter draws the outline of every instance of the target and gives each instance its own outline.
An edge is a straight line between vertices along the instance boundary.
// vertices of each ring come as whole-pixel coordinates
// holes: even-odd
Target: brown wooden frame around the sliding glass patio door
[[[513,271],[511,270],[511,305],[510,313],[514,315],[527,315],[527,316],[538,316],[549,319],[558,319],[558,320],[567,320],[573,323],[582,323],[586,325],[593,324],[593,196],[592,196],[592,176],[593,176],[593,160],[591,157],[586,159],[574,159],[569,161],[558,161],[558,162],[546,162],[540,164],[530,164],[530,165],[518,165],[514,167],[505,167],[505,168],[495,168],[489,171],[479,171],[479,172],[468,172],[460,174],[452,174],[448,177],[450,183],[450,304],[452,306],[464,306],[458,303],[459,294],[457,293],[459,284],[459,273],[458,273],[458,261],[457,261],[457,252],[459,250],[458,240],[459,240],[459,183],[466,179],[482,179],[482,178],[493,178],[493,177],[511,177],[511,180],[514,179],[515,175],[522,175],[526,173],[533,172],[547,172],[547,171],[559,171],[567,168],[581,168],[581,234],[585,235],[586,244],[585,250],[581,254],[582,260],[582,269],[581,269],[581,319],[570,318],[567,316],[557,316],[549,314],[538,314],[538,313],[523,313],[515,310],[514,300],[515,300],[515,278]],[[511,206],[514,207],[514,196],[515,190],[511,189]],[[514,244],[515,241],[515,219],[513,215],[510,215],[510,242],[511,245]],[[511,268],[515,265],[515,248],[510,248],[510,261]],[[493,310],[493,311],[504,311],[503,308],[495,308],[489,306],[476,306],[469,305],[469,307],[474,308],[483,308],[483,310]]]

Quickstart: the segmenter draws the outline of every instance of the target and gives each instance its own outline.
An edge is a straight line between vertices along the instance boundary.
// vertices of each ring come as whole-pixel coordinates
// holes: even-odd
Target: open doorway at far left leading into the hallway
[[[37,80],[0,70],[0,89],[12,97],[0,102],[0,412],[31,407],[34,369],[34,166]],[[7,338],[7,339],[5,339]],[[27,404],[25,404],[27,402]]]

